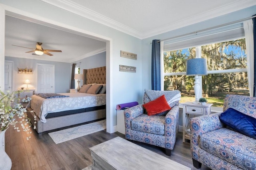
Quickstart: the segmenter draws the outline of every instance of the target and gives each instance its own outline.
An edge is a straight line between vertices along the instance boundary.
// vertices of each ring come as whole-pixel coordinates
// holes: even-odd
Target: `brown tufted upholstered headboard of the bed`
[[[106,84],[106,66],[84,69],[83,70],[84,84],[104,83]]]

